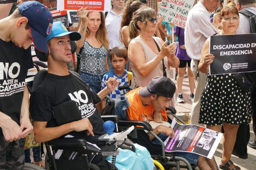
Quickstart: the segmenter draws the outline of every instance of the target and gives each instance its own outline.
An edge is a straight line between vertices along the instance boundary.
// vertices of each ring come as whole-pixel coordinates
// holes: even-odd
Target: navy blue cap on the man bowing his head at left
[[[36,49],[48,52],[47,35],[52,28],[52,14],[45,5],[36,1],[26,1],[18,5],[20,14],[28,18],[29,30]]]

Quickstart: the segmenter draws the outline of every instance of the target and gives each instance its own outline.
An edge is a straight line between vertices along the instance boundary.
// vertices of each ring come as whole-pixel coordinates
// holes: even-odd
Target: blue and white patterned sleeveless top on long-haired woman
[[[107,72],[105,65],[107,49],[104,46],[95,48],[88,41],[84,40],[81,54],[81,72],[93,75],[103,75]]]

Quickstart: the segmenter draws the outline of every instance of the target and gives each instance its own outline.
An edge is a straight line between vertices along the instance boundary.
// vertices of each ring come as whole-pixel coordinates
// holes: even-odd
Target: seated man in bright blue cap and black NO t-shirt
[[[51,33],[47,37],[48,73],[40,85],[33,89],[30,100],[30,111],[34,120],[34,138],[37,142],[46,142],[61,136],[84,137],[87,142],[95,143],[101,150],[113,151],[112,146],[105,146],[98,137],[105,134],[103,121],[95,104],[114,90],[118,81],[109,78],[105,89],[96,94],[89,85],[76,75],[68,71],[66,63],[71,61],[70,40],[79,40],[78,32],[68,32],[61,22],[53,23]],[[39,72],[40,73],[40,72]],[[69,101],[75,101],[78,107],[72,112],[66,112],[72,106]],[[68,104],[68,106],[63,106]],[[63,108],[64,107],[64,108]],[[61,112],[58,111],[61,110]],[[62,112],[65,112],[62,118]],[[78,119],[73,119],[74,117]],[[81,116],[82,115],[82,116]],[[69,121],[67,122],[67,119]],[[81,169],[77,162],[82,153],[64,150],[67,161],[63,163],[70,169]],[[92,156],[93,157],[93,156]],[[83,160],[82,160],[83,161]],[[100,156],[89,157],[89,161],[95,163],[100,169],[109,169],[109,163]]]

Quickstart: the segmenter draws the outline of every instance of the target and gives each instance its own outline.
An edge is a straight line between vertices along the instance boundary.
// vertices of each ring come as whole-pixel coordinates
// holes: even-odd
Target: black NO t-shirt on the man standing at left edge
[[[20,48],[0,39],[0,111],[20,124],[20,111],[29,68],[31,48]],[[2,129],[0,128],[0,134]]]

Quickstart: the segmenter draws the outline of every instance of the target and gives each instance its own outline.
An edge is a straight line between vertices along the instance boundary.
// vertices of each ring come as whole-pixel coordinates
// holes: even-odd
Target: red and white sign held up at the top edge
[[[111,0],[57,0],[58,10],[78,10],[88,7],[88,11],[110,11]]]

